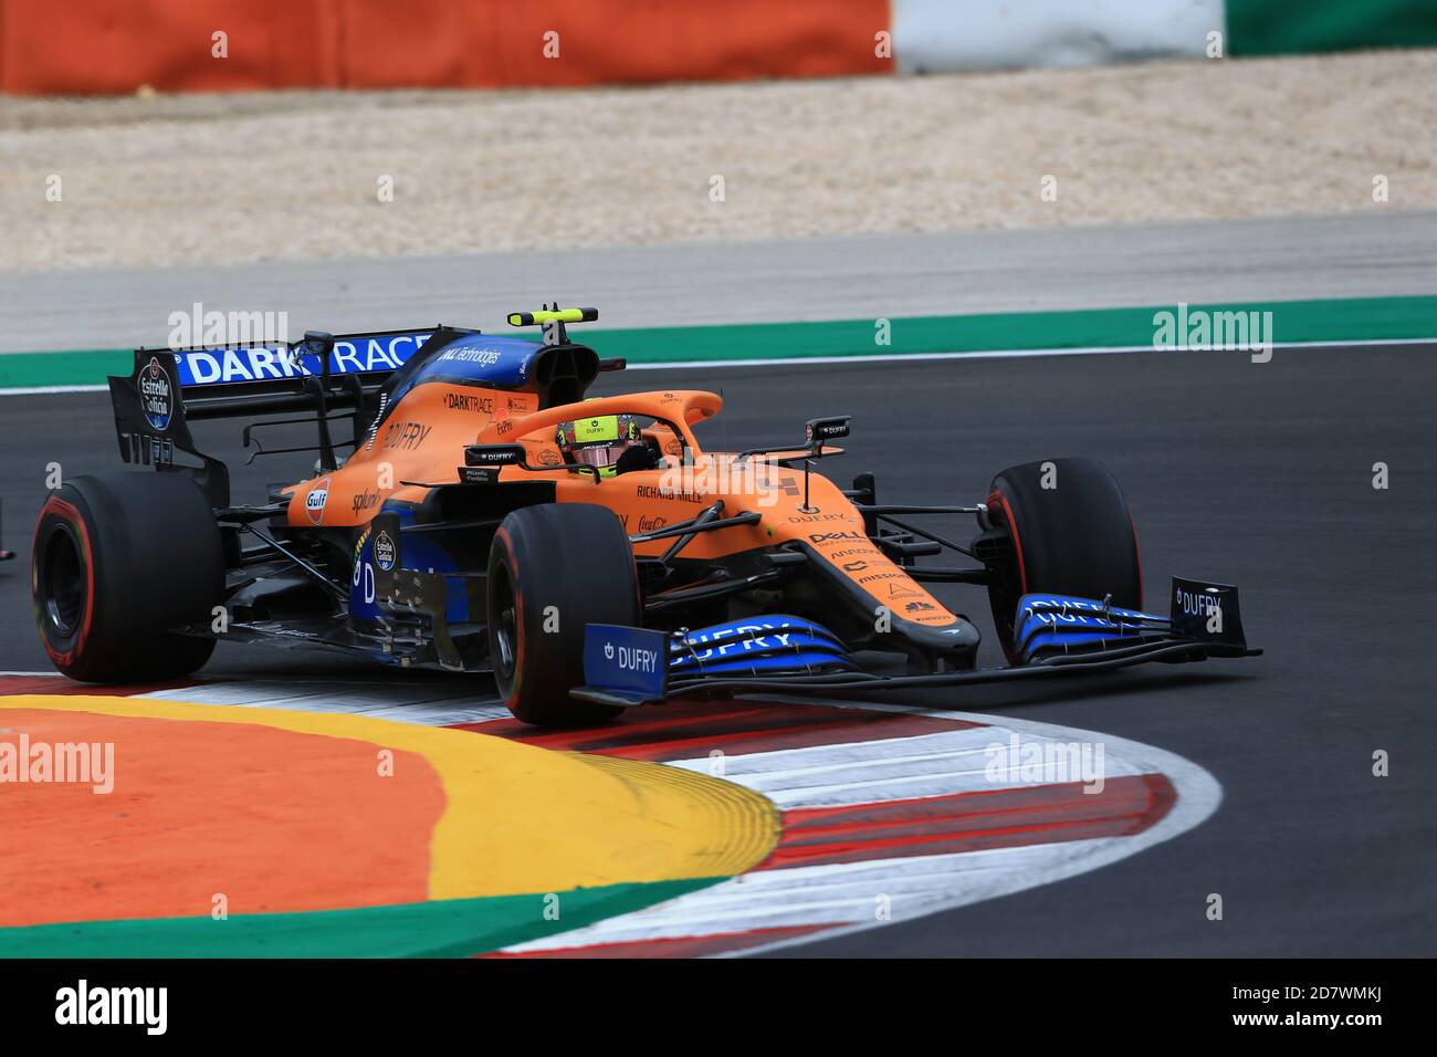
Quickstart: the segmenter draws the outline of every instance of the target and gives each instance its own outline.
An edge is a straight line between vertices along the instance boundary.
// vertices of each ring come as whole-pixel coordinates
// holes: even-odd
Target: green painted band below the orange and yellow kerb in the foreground
[[[160,918],[0,929],[0,958],[461,958],[552,936],[723,877],[308,913]],[[549,902],[546,902],[549,899]],[[552,918],[552,910],[549,913]]]

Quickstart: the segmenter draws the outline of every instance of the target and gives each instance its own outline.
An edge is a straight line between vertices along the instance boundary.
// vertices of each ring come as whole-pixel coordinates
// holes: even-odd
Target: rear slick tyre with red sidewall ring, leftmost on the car
[[[224,601],[214,513],[181,473],[96,473],[52,492],[34,526],[30,591],[50,662],[86,683],[187,676],[213,639],[171,631],[208,624]]]

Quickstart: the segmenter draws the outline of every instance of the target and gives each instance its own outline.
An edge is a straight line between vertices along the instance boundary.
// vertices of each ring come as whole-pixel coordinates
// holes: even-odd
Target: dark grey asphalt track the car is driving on
[[[644,371],[595,393],[704,387],[727,410],[708,446],[787,441],[854,416],[839,479],[878,473],[884,500],[980,499],[993,473],[1085,454],[1122,482],[1150,604],[1170,574],[1242,588],[1263,657],[898,700],[1061,723],[1177,752],[1224,790],[1177,840],[1058,884],[783,951],[785,955],[1437,955],[1437,685],[1431,526],[1437,349],[1141,352],[1013,360]],[[239,426],[205,423],[216,454]],[[224,440],[224,439],[228,440]],[[277,443],[277,439],[276,439]],[[118,469],[108,397],[0,398],[0,669],[43,670],[29,532],[46,463]],[[236,498],[305,476],[293,456],[231,463]],[[1387,490],[1372,488],[1384,462]],[[946,525],[960,538],[969,525]],[[162,585],[157,585],[162,588]],[[990,628],[980,592],[940,597]],[[984,663],[1000,656],[984,646]],[[221,646],[207,674],[372,674],[323,654]],[[445,676],[435,676],[445,677]],[[476,693],[487,693],[483,679]],[[1391,774],[1372,775],[1372,754]],[[1223,920],[1209,920],[1209,894]]]

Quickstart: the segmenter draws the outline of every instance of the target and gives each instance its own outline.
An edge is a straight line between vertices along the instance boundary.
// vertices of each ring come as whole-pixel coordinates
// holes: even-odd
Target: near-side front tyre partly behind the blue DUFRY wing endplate
[[[585,624],[639,623],[628,534],[589,503],[509,513],[489,552],[489,651],[509,710],[535,726],[585,726],[624,709],[569,696],[583,685]]]

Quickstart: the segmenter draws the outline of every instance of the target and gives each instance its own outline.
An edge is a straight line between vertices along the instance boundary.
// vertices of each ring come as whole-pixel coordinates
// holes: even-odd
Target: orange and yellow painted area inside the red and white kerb
[[[779,836],[729,782],[362,716],[0,699],[22,733],[114,743],[115,788],[0,785],[0,926],[727,877]]]

